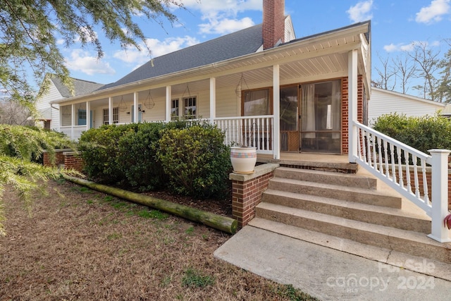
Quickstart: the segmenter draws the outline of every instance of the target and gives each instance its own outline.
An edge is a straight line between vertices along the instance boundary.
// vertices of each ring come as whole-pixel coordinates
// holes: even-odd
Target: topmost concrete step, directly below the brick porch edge
[[[277,178],[303,180],[315,183],[342,185],[376,190],[376,178],[360,176],[355,173],[337,173],[332,171],[314,171],[310,169],[279,167],[274,171]]]

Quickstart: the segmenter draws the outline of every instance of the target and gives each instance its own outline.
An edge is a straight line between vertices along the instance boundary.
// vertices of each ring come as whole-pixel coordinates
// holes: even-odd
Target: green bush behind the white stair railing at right
[[[373,128],[426,154],[429,149],[451,149],[451,120],[439,114],[421,117],[385,114]]]

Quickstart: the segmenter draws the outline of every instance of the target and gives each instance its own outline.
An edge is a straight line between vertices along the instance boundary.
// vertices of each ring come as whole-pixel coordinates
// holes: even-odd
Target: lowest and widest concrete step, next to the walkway
[[[364,223],[267,202],[261,202],[256,207],[256,217],[354,240],[366,245],[384,247],[413,256],[451,263],[451,243],[436,242],[424,233]]]

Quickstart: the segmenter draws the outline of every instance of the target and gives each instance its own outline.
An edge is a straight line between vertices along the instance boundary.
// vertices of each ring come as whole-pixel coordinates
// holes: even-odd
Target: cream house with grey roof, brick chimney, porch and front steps
[[[309,231],[451,262],[451,245],[438,246],[450,241],[443,227],[447,185],[440,181],[449,152],[434,150],[429,156],[366,126],[371,23],[297,38],[283,0],[264,0],[263,11],[262,24],[157,57],[87,94],[55,99],[51,105],[59,109],[58,130],[77,140],[85,130],[104,124],[206,119],[225,132],[226,143],[253,145],[260,158],[275,163],[256,166],[252,175],[230,175],[233,216],[240,226],[260,216],[277,223],[271,231],[285,230],[286,225],[280,226],[285,219]],[[421,166],[409,166],[409,160],[402,166],[402,158]],[[278,168],[282,164],[285,169]],[[347,174],[357,166],[411,200],[424,218],[404,213],[401,197],[375,192],[375,180]],[[315,168],[322,173],[311,171]],[[330,170],[341,172],[332,175]],[[438,176],[430,180],[431,173]],[[272,202],[261,204],[262,195]],[[438,242],[426,238],[428,229]],[[407,240],[409,231],[418,234]],[[314,243],[331,239],[320,240]]]

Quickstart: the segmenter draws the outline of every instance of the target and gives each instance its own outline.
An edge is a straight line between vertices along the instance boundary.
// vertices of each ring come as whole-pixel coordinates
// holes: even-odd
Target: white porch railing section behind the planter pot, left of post
[[[259,154],[273,153],[273,116],[215,118],[214,123],[226,134],[226,145],[257,147]]]

